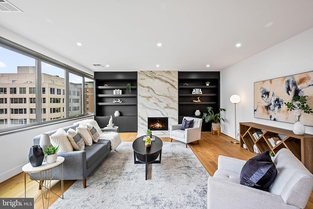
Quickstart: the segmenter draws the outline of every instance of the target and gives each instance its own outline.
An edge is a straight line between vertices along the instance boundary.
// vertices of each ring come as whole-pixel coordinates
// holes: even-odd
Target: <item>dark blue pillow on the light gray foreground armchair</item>
[[[267,191],[277,175],[269,151],[249,159],[240,173],[240,184]]]

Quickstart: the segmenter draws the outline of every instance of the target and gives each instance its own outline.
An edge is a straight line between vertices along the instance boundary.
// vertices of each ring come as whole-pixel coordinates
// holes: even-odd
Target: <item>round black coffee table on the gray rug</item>
[[[147,170],[148,163],[161,163],[161,154],[163,142],[160,138],[153,136],[155,140],[151,140],[151,146],[146,147],[145,138],[146,136],[141,136],[134,140],[134,163],[145,163],[146,164],[146,180],[147,180]],[[159,159],[156,161],[157,157]]]

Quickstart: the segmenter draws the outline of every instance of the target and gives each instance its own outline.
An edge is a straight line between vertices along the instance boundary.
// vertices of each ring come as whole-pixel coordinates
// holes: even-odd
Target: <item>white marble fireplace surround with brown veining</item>
[[[138,137],[146,135],[148,117],[168,117],[168,126],[178,124],[178,71],[138,71],[137,102]],[[152,134],[169,137],[169,130]]]

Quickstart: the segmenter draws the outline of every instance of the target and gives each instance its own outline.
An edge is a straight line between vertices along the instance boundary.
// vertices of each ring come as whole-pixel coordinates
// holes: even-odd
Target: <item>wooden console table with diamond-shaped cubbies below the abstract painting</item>
[[[262,134],[259,137],[254,137],[255,132],[262,132]],[[274,146],[268,140],[273,137],[281,140]],[[244,148],[244,144],[246,148]],[[290,149],[294,156],[313,173],[313,135],[311,134],[295,135],[291,130],[252,122],[241,122],[240,147],[257,154],[253,151],[253,145],[256,145],[260,153],[269,150],[276,154],[281,148]]]

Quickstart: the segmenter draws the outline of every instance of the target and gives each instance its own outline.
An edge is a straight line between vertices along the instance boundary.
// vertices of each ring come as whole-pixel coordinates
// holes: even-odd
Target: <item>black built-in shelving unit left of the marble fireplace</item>
[[[105,127],[112,116],[113,123],[120,132],[137,131],[137,72],[94,72],[95,80],[95,120]],[[126,84],[131,83],[132,91],[126,92]],[[106,85],[106,86],[105,86]],[[121,94],[114,94],[115,89]],[[122,103],[114,100],[122,100]],[[118,110],[120,116],[114,116]]]

